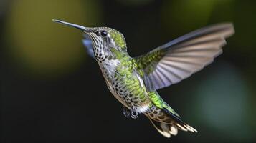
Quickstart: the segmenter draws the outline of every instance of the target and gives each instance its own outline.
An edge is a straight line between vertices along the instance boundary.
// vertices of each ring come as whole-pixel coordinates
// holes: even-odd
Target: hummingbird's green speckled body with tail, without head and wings
[[[147,91],[143,79],[138,74],[137,65],[127,53],[103,54],[105,51],[95,55],[108,55],[112,58],[98,57],[97,61],[103,72],[105,82],[110,92],[128,110],[131,110],[131,117],[138,117],[139,113],[145,114],[161,134],[170,137],[176,135],[177,129],[196,132],[196,129],[179,119],[179,115],[163,101],[159,94],[154,91]],[[117,51],[115,51],[117,52]],[[95,56],[97,57],[97,56]],[[171,116],[170,117],[170,113]],[[161,131],[163,129],[163,131]]]

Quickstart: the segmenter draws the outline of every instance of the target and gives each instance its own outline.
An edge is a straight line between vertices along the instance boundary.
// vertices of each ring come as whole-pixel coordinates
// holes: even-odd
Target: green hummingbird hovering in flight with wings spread
[[[126,117],[146,115],[164,137],[176,135],[178,129],[197,132],[181,120],[156,90],[176,84],[212,63],[222,53],[225,38],[234,34],[231,23],[207,26],[147,54],[131,57],[125,37],[115,29],[53,21],[85,33],[87,52],[98,61],[108,89],[123,104]]]

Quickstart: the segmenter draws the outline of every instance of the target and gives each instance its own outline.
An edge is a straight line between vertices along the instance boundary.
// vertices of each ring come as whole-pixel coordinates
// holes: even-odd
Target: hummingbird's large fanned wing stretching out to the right
[[[134,58],[149,91],[186,79],[222,54],[232,24],[216,24],[179,37],[143,56]]]

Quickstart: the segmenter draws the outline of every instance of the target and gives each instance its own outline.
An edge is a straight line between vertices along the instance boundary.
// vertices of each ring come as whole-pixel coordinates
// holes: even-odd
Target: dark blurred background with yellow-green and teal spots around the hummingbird
[[[256,1],[1,0],[2,142],[255,142]],[[131,56],[202,26],[234,23],[224,54],[158,92],[199,132],[166,139],[123,116],[82,34],[52,19],[121,31]]]

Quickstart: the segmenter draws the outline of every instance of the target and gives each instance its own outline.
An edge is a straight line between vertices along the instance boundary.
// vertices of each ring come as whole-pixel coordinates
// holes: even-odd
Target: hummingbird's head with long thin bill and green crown
[[[85,32],[93,42],[94,52],[104,50],[106,52],[118,50],[126,51],[126,42],[123,34],[115,29],[108,27],[85,27],[77,24],[70,24],[65,21],[52,20],[54,22],[65,24],[67,26],[75,27]]]

